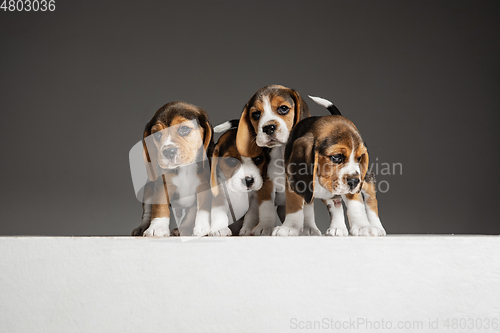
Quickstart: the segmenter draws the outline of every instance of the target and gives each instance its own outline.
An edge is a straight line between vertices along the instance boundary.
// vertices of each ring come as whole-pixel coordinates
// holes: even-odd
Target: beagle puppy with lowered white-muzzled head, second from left
[[[257,191],[267,177],[269,155],[266,148],[257,155],[241,156],[236,148],[238,120],[216,126],[223,133],[215,144],[210,182],[212,186],[212,225],[210,236],[231,236],[229,225],[242,217],[240,236],[249,235],[258,222]]]

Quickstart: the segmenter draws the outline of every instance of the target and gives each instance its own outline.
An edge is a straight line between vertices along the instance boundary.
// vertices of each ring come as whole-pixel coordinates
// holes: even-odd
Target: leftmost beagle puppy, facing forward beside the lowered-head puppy
[[[207,113],[188,103],[167,103],[147,123],[142,143],[149,182],[142,223],[132,235],[169,236],[169,206],[181,235],[208,234],[213,129]]]

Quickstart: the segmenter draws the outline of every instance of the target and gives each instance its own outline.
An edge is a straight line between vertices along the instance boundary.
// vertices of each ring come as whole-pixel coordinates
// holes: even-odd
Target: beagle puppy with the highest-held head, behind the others
[[[270,236],[276,225],[276,208],[285,216],[284,148],[294,125],[310,116],[309,108],[293,89],[270,85],[257,91],[245,105],[236,134],[236,146],[244,157],[257,156],[259,148],[270,148],[267,177],[257,191],[259,223],[251,234]]]

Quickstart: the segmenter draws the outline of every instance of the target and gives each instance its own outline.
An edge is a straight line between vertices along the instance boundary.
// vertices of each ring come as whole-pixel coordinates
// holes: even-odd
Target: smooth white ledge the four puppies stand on
[[[485,318],[500,319],[498,236],[185,240],[0,237],[2,331],[437,332],[465,318],[474,329],[449,331],[492,332]]]

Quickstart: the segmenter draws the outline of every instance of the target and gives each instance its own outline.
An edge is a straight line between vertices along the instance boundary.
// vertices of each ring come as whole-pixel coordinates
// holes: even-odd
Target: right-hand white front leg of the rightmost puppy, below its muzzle
[[[347,207],[350,234],[353,236],[382,236],[378,228],[372,227],[366,215],[365,203],[361,193],[342,196]]]

